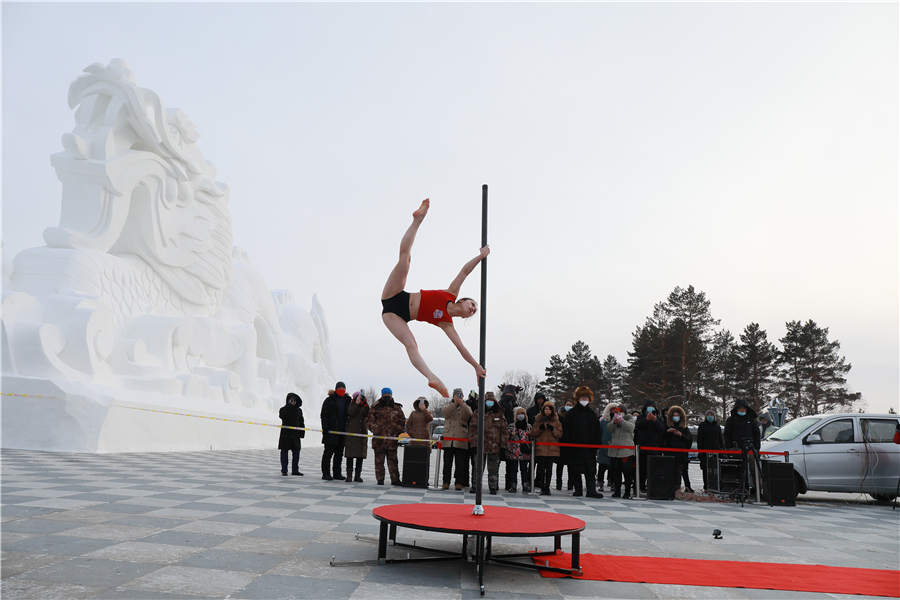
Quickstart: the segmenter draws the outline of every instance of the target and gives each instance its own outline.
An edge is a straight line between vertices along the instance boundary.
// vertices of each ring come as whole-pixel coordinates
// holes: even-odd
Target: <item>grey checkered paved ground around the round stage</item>
[[[282,477],[276,450],[168,454],[2,452],[4,598],[469,598],[462,563],[331,567],[372,559],[372,508],[471,502],[461,492],[320,479],[320,447],[305,477]],[[698,478],[699,479],[699,478]],[[486,486],[485,486],[486,487]],[[864,503],[794,508],[501,493],[486,505],[584,519],[582,551],[897,568],[900,510]],[[724,532],[714,541],[713,528]],[[455,549],[457,537],[401,529],[398,541]],[[503,542],[503,543],[499,543]],[[495,552],[547,539],[495,540]],[[394,556],[406,553],[389,548]],[[765,573],[748,573],[765,577]],[[819,598],[765,590],[543,579],[488,566],[487,597]],[[859,598],[859,596],[851,596]]]

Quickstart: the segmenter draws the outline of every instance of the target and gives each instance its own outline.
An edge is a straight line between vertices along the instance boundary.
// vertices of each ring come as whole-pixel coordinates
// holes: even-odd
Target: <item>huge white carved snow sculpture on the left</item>
[[[276,429],[126,406],[271,423],[288,391],[314,425],[334,381],[322,307],[270,293],[234,247],[194,124],[118,59],[69,106],[59,226],[4,269],[3,447],[274,448]]]

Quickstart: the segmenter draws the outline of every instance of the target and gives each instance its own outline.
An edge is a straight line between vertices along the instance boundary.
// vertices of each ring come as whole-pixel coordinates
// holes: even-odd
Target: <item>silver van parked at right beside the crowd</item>
[[[800,417],[767,436],[762,450],[790,452],[800,494],[863,492],[889,502],[900,483],[900,445],[893,442],[898,422],[891,414]]]

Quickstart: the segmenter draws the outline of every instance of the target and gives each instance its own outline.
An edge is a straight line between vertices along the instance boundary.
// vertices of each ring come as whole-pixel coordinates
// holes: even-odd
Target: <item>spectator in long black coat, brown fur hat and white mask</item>
[[[566,419],[563,422],[563,436],[561,442],[567,444],[599,444],[600,421],[597,413],[591,408],[594,401],[594,392],[587,386],[579,386],[573,394],[574,406],[566,411]],[[596,448],[563,447],[569,463],[569,477],[574,479],[575,492],[573,496],[587,496],[589,498],[602,498],[603,494],[597,492],[597,482],[594,479],[597,468]],[[581,478],[584,476],[584,486]]]

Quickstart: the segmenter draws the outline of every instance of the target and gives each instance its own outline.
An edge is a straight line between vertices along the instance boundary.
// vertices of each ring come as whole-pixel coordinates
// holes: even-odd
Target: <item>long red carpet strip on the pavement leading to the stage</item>
[[[572,565],[571,555],[564,553],[534,558],[538,565],[545,560],[551,567]],[[583,574],[572,578],[900,598],[900,571],[881,569],[601,554],[582,554],[581,568]],[[541,575],[568,577],[550,571]]]

